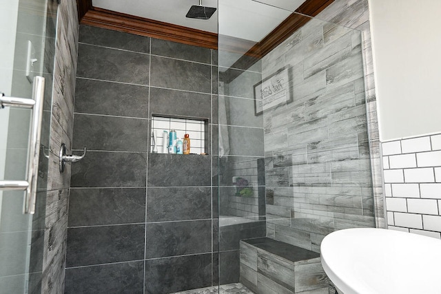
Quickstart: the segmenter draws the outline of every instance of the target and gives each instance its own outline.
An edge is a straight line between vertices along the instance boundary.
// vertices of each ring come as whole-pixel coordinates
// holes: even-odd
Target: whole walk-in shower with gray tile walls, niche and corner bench
[[[0,264],[19,254],[11,240],[28,249],[0,267],[0,293],[10,281],[19,293],[332,293],[321,240],[383,219],[367,1],[218,1],[216,49],[93,22],[77,38],[74,3],[43,2],[57,99],[43,112],[37,214],[11,216],[21,198],[0,194]],[[14,112],[0,119],[27,126]],[[167,153],[172,129],[191,154]],[[26,153],[10,142],[7,167],[2,154]],[[87,146],[63,173],[61,143]]]

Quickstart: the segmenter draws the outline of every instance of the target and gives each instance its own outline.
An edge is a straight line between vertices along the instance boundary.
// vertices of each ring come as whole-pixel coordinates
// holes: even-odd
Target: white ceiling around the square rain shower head
[[[198,0],[93,0],[92,5],[257,42],[267,36],[304,1],[203,0],[203,6],[218,8],[208,20],[185,17],[191,6],[198,5]]]

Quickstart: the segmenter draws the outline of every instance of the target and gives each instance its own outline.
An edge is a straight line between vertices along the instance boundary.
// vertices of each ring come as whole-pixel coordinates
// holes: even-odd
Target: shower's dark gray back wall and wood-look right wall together
[[[322,19],[369,34],[366,3],[335,1]],[[312,20],[252,67],[229,70],[226,52],[81,25],[72,149],[90,151],[72,165],[65,293],[235,283],[240,239],[318,251],[334,229],[381,223],[366,40]],[[256,115],[254,85],[283,67],[294,103]],[[208,155],[150,153],[161,114],[206,120]],[[224,226],[218,214],[252,221]]]

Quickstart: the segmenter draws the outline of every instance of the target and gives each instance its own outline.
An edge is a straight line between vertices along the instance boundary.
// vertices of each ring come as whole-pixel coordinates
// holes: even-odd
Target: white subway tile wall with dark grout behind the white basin
[[[382,143],[389,229],[441,239],[441,134]]]

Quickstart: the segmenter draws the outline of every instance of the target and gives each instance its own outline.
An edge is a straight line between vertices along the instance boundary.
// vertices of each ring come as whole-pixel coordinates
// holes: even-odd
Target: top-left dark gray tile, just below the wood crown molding
[[[118,48],[135,52],[150,52],[150,37],[80,25],[79,41],[93,45]]]

